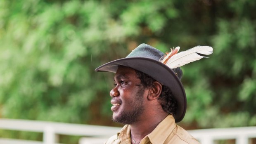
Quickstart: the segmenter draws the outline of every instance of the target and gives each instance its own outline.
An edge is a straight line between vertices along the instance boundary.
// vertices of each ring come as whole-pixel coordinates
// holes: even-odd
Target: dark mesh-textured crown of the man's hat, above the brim
[[[164,57],[164,53],[150,45],[142,43],[130,52],[126,58],[128,57],[145,57],[159,61],[161,57]]]

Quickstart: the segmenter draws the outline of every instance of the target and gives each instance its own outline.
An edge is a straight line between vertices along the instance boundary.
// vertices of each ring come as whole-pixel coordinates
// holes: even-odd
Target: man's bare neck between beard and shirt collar
[[[151,115],[151,118],[143,118],[143,120],[130,124],[132,141],[140,142],[140,140],[151,133],[166,116],[168,116],[168,114],[161,116],[153,115],[153,117]]]

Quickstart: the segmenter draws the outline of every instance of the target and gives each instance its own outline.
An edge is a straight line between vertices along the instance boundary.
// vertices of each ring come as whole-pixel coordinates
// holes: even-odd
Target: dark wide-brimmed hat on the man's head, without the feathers
[[[180,122],[186,113],[187,99],[185,90],[180,78],[182,71],[180,68],[171,69],[159,60],[164,57],[164,53],[156,48],[141,44],[136,47],[126,58],[110,61],[99,66],[95,71],[108,71],[116,73],[118,66],[127,66],[142,73],[146,73],[162,85],[166,85],[177,100],[177,111],[174,115],[175,122]]]

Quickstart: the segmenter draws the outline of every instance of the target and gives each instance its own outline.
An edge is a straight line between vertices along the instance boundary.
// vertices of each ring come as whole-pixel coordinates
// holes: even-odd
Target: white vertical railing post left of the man
[[[55,144],[55,132],[50,126],[45,127],[43,131],[43,144]]]

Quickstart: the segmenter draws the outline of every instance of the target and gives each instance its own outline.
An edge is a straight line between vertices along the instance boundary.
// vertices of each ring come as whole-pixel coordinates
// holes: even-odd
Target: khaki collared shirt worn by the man
[[[105,144],[131,144],[130,126],[125,125],[117,135]],[[167,116],[156,128],[145,136],[140,144],[200,144],[182,127],[176,125],[172,115]]]

